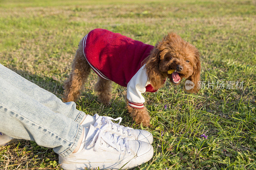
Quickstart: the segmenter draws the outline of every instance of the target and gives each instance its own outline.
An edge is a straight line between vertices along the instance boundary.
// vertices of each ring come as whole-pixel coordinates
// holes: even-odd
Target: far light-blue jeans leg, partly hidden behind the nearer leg
[[[81,122],[85,115],[84,112],[76,109],[75,102],[63,103],[51,92],[28,81],[14,71],[4,67],[2,64],[0,64],[0,78],[3,78],[11,85],[19,88],[20,91],[39,101],[44,106],[49,107],[55,113],[65,115],[76,122]]]

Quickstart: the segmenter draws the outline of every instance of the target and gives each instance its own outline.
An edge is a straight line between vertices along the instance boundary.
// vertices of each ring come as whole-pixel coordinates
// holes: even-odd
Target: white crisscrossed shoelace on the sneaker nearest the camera
[[[96,133],[94,137],[86,144],[86,146],[91,145],[94,143],[94,151],[98,151],[99,146],[102,145],[103,143],[100,142],[100,139],[105,141],[107,143],[107,147],[113,147],[116,149],[118,152],[124,152],[124,149],[126,149],[127,153],[131,153],[130,147],[128,144],[128,138],[122,138],[121,136],[117,136],[116,134],[112,134],[110,132],[104,132],[106,129],[106,126],[102,126],[100,129],[96,128]],[[120,146],[120,149],[118,148],[118,145]]]

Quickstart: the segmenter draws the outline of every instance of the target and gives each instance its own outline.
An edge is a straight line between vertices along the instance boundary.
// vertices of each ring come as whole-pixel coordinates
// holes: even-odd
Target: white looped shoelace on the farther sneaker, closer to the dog
[[[93,125],[94,127],[97,127],[98,124],[100,126],[106,126],[106,125],[108,126],[109,124],[111,124],[111,129],[112,130],[114,130],[114,127],[116,127],[118,132],[120,132],[120,130],[122,129],[123,134],[125,134],[125,132],[127,131],[127,135],[128,136],[132,135],[132,131],[131,131],[132,128],[124,127],[124,126],[120,125],[120,122],[122,121],[121,117],[113,119],[112,117],[100,116],[98,114],[95,114],[93,117],[95,117],[95,119],[96,119],[96,122]],[[113,121],[118,121],[119,120],[119,122],[118,123],[114,123],[111,120],[113,120]]]

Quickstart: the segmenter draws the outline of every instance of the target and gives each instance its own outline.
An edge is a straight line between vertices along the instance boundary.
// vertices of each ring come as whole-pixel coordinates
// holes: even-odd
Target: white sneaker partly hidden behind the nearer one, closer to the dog
[[[119,120],[119,122],[114,123],[111,120],[114,120],[114,121]],[[87,115],[84,121],[88,122],[84,125],[82,124],[85,128],[88,127],[89,124],[91,123],[95,128],[99,128],[99,129],[101,128],[101,126],[106,126],[107,128],[105,132],[115,133],[118,136],[127,137],[131,140],[140,140],[143,142],[148,142],[149,144],[153,143],[153,136],[147,130],[133,129],[130,127],[124,127],[122,125],[119,125],[120,122],[122,121],[121,117],[113,119],[112,117],[99,116],[98,114],[95,114],[93,117],[91,115]]]

